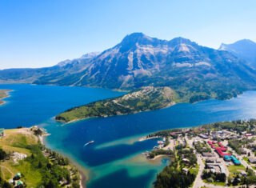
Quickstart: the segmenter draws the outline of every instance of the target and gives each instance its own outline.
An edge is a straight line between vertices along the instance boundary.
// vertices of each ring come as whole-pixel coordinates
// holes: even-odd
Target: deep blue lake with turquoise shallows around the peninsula
[[[73,158],[87,169],[88,187],[148,187],[169,159],[148,162],[141,154],[155,140],[137,142],[155,130],[198,126],[210,122],[256,118],[256,91],[228,101],[182,103],[162,110],[109,118],[90,118],[63,126],[53,117],[72,106],[122,93],[85,87],[0,85],[12,89],[0,106],[5,128],[40,124],[51,134],[46,145]],[[84,146],[86,142],[94,143]]]

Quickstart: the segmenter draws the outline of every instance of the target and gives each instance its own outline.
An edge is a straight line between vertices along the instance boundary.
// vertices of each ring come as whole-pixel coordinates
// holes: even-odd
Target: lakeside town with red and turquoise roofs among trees
[[[158,174],[155,187],[169,184],[194,188],[255,185],[255,128],[256,120],[250,119],[161,130],[148,135],[146,139],[158,139],[158,146],[147,152],[146,157],[149,160],[170,158],[170,166]]]

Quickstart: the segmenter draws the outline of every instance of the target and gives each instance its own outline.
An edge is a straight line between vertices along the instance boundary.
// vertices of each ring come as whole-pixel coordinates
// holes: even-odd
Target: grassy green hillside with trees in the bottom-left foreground
[[[67,158],[42,146],[35,130],[5,130],[6,136],[0,138],[4,158],[0,162],[1,178],[9,182],[16,173],[21,173],[21,180],[27,187],[61,187],[65,182],[70,187],[79,187],[78,171],[70,166]],[[26,154],[26,158],[16,160],[14,152]]]

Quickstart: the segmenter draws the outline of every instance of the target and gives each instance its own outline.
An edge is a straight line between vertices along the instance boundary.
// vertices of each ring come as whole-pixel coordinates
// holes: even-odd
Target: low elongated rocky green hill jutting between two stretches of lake
[[[177,100],[174,90],[169,87],[144,87],[122,97],[92,102],[78,106],[56,116],[56,120],[71,122],[84,118],[134,114],[171,106]]]

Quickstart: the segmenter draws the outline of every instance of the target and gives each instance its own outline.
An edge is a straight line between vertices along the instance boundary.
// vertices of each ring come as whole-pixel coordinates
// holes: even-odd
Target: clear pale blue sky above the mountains
[[[254,0],[1,0],[0,69],[53,66],[133,32],[203,46],[256,42]]]

